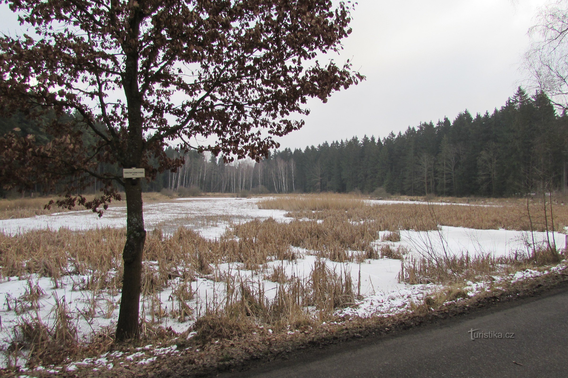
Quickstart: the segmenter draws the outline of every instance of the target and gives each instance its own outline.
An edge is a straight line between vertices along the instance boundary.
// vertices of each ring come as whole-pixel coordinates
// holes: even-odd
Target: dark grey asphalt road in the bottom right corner
[[[471,340],[471,330],[487,337]],[[491,332],[496,337],[490,338]],[[566,378],[568,286],[391,337],[300,352],[219,377]]]

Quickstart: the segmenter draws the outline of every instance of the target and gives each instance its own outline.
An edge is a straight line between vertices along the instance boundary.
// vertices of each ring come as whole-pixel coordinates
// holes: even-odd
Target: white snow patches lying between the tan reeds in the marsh
[[[144,207],[144,217],[147,229],[161,227],[165,232],[171,232],[179,226],[190,226],[198,230],[202,236],[208,238],[219,237],[230,222],[248,221],[251,219],[268,219],[272,217],[278,221],[287,221],[285,211],[258,209],[257,199],[237,198],[203,198],[203,199],[179,199],[164,203],[150,203]],[[378,201],[373,201],[377,203]],[[381,203],[394,201],[381,201]],[[397,202],[398,203],[398,202]],[[77,211],[56,213],[53,215],[36,216],[27,219],[0,220],[0,231],[7,234],[16,234],[33,229],[59,229],[61,227],[72,230],[85,230],[102,227],[126,226],[126,208],[113,207],[105,212],[101,219],[89,211]],[[204,218],[216,219],[216,221],[203,221]],[[411,254],[430,255],[449,253],[456,254],[468,252],[492,253],[507,255],[515,251],[525,251],[527,241],[534,237],[537,242],[546,239],[545,233],[527,233],[510,230],[475,230],[456,227],[441,227],[438,231],[415,232],[401,231],[400,242],[381,242],[378,236],[376,247],[382,244],[390,244],[394,248],[405,247]],[[550,233],[549,238],[556,241],[558,249],[565,248],[565,235]],[[301,256],[293,262],[273,261],[269,262],[266,270],[253,272],[243,270],[239,264],[225,263],[216,267],[219,274],[231,274],[246,280],[250,285],[258,287],[264,285],[267,297],[272,297],[277,285],[265,278],[266,274],[275,266],[281,266],[287,276],[296,276],[306,279],[314,267],[316,257],[311,251],[296,249]],[[152,262],[145,262],[152,264]],[[357,287],[361,278],[361,295],[365,298],[358,308],[340,310],[344,314],[390,314],[407,308],[410,301],[419,301],[428,293],[439,288],[437,285],[408,285],[398,282],[400,271],[399,260],[376,259],[367,260],[364,263],[336,263],[327,262],[328,266],[336,272],[347,272],[352,276],[353,283]],[[96,296],[92,291],[77,290],[81,282],[88,280],[87,276],[67,275],[57,285],[50,278],[31,275],[27,278],[9,277],[0,280],[0,347],[6,347],[14,334],[14,327],[23,317],[39,316],[48,325],[53,325],[55,320],[54,305],[56,300],[60,303],[65,300],[74,316],[74,326],[80,334],[89,335],[102,326],[112,325],[118,318],[116,302],[120,298],[119,293],[98,292]],[[173,279],[170,287],[158,294],[158,300],[162,308],[172,310],[176,303],[172,299],[173,289],[182,284],[179,279]],[[193,316],[183,322],[164,317],[160,322],[164,326],[171,326],[174,330],[186,330],[195,321],[195,315],[203,313],[206,301],[212,298],[222,299],[224,296],[223,282],[215,282],[208,278],[198,278],[191,282],[191,290],[196,293],[193,300],[188,304],[193,310]],[[56,288],[57,286],[57,288]],[[22,301],[26,293],[40,288],[41,297],[39,308],[22,310]],[[471,283],[471,292],[479,291],[479,285]],[[18,309],[18,303],[20,308]],[[151,302],[149,299],[141,303],[141,312],[148,320],[152,318]],[[1,364],[1,363],[0,363]]]

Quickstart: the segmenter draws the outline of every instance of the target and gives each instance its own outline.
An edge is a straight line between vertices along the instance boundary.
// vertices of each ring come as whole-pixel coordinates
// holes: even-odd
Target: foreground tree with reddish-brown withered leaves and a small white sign
[[[303,125],[308,98],[363,79],[349,62],[320,63],[350,33],[349,6],[329,0],[14,0],[33,35],[0,36],[0,116],[45,122],[47,140],[0,137],[0,182],[59,190],[58,205],[102,215],[127,199],[127,240],[118,339],[138,330],[146,231],[142,186],[110,168],[144,168],[152,181],[183,157],[208,151],[224,161],[268,156]],[[49,115],[47,117],[46,115]],[[199,140],[209,138],[207,145]],[[94,200],[78,194],[91,178]],[[63,185],[61,185],[63,183]],[[117,185],[119,184],[119,185]]]

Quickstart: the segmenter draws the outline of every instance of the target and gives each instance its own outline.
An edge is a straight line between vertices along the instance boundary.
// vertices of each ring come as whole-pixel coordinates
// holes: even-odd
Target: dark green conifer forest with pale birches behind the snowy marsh
[[[0,128],[6,132],[20,122],[0,122]],[[529,96],[519,88],[491,114],[463,111],[453,121],[445,117],[382,139],[353,137],[276,150],[260,162],[226,164],[189,152],[178,171],[159,174],[145,190],[369,193],[383,188],[402,195],[516,196],[565,189],[567,140],[568,116],[557,115],[545,94]]]

